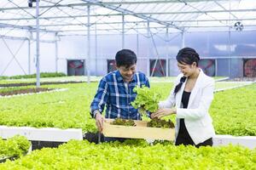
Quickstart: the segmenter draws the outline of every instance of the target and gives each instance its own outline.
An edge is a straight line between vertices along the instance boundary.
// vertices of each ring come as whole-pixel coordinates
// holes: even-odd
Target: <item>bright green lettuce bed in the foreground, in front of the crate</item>
[[[256,150],[241,146],[201,147],[148,145],[143,140],[124,144],[69,141],[58,149],[34,150],[0,169],[253,169]]]

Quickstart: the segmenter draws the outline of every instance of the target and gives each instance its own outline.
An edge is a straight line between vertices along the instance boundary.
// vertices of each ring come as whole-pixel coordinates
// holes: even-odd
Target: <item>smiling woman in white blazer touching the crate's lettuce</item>
[[[212,146],[215,133],[208,110],[213,99],[214,80],[198,67],[200,58],[195,49],[179,50],[176,59],[182,74],[177,76],[169,97],[159,103],[160,109],[151,117],[176,114],[176,145]]]

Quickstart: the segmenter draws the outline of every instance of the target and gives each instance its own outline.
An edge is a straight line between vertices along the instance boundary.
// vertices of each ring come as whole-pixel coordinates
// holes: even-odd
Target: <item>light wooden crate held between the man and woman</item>
[[[174,140],[174,128],[147,127],[147,121],[134,121],[135,127],[112,125],[113,119],[106,119],[102,133],[106,137],[131,139],[165,139]]]

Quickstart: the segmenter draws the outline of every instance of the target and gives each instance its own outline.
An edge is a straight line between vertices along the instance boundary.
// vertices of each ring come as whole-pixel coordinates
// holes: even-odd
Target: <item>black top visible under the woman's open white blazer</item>
[[[183,109],[186,109],[189,105],[189,97],[191,92],[183,91],[183,97],[182,97],[182,103],[183,103]],[[179,131],[180,134],[188,134],[187,128],[185,127],[184,119],[179,120]]]

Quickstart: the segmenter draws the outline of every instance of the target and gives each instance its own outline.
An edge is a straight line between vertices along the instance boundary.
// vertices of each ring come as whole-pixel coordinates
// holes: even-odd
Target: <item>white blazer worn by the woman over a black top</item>
[[[181,77],[183,77],[183,74],[177,76],[174,88],[180,82]],[[186,82],[183,82],[176,96],[173,94],[173,88],[169,97],[165,101],[160,101],[159,107],[172,108],[176,106],[176,138],[179,129],[179,119],[184,118],[185,126],[191,139],[193,139],[195,144],[200,144],[215,135],[212,118],[208,113],[213,99],[214,80],[212,77],[207,77],[201,70],[195,82],[195,87],[191,91],[188,108],[183,109],[181,100]]]

